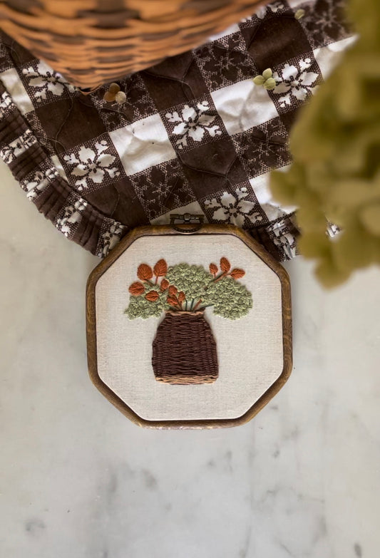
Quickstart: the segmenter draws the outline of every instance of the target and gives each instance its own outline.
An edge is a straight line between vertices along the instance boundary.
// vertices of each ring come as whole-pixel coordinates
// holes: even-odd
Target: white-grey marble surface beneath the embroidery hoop
[[[245,426],[143,430],[86,370],[97,259],[1,165],[4,558],[377,558],[380,271],[325,292],[287,264],[294,371]]]

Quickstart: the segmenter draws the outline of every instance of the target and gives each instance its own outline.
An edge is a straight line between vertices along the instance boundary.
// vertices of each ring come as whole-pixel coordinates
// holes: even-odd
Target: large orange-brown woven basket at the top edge
[[[265,0],[8,0],[1,29],[68,81],[96,88],[198,46]]]

